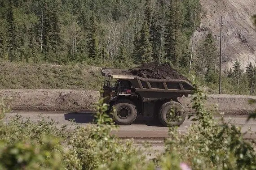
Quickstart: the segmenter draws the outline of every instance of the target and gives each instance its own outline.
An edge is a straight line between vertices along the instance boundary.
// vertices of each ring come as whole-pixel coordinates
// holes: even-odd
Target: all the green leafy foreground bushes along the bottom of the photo
[[[38,122],[16,116],[9,123],[3,118],[8,109],[0,100],[0,168],[28,170],[162,170],[246,169],[256,168],[252,144],[243,139],[240,127],[214,119],[217,110],[204,106],[207,96],[193,81],[192,108],[194,123],[186,133],[170,127],[166,150],[156,160],[147,161],[131,140],[121,141],[112,131],[118,126],[106,114],[108,105],[97,103],[94,124],[76,126],[74,132],[59,128],[50,119]],[[255,101],[251,101],[255,102]],[[24,135],[26,134],[26,135]],[[56,139],[58,138],[58,140]],[[62,145],[67,148],[64,152]]]

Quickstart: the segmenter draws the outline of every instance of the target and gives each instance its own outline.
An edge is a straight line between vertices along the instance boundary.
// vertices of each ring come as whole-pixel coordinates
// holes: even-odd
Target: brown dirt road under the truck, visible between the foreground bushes
[[[8,119],[16,114],[21,115],[24,118],[30,117],[31,120],[36,121],[39,119],[38,115],[42,115],[45,118],[48,116],[59,122],[59,126],[68,124],[71,125],[70,119],[75,119],[80,126],[86,126],[93,121],[93,115],[90,113],[72,113],[72,112],[42,112],[42,111],[13,111],[8,115]],[[219,117],[216,117],[218,119]],[[247,116],[230,116],[232,123],[236,126],[242,127],[242,132],[247,132],[251,128],[251,132],[245,135],[245,138],[256,139],[256,121],[250,120],[246,122]],[[229,116],[225,116],[225,120],[228,120]],[[192,123],[191,120],[186,119],[185,122],[179,127],[181,132],[186,132],[186,127]],[[130,126],[120,126],[117,132],[113,132],[121,138],[134,138],[136,140],[163,140],[168,137],[168,127],[162,127],[161,124],[152,120],[143,120],[141,117]]]

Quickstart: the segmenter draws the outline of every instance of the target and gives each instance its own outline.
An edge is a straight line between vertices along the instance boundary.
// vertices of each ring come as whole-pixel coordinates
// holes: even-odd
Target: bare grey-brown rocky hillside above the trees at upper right
[[[201,0],[202,23],[195,32],[196,42],[212,30],[220,40],[220,20],[223,16],[223,62],[231,66],[239,59],[243,67],[256,58],[256,30],[252,15],[256,13],[256,0]]]

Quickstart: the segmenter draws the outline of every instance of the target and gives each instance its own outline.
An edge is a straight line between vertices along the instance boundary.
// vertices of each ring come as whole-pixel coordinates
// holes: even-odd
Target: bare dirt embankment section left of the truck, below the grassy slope
[[[13,110],[93,111],[99,100],[94,90],[3,89],[0,98],[12,98]]]

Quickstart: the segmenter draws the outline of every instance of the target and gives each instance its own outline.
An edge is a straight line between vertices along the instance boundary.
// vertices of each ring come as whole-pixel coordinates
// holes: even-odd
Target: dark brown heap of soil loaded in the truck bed
[[[146,63],[137,68],[132,68],[129,72],[134,76],[154,79],[181,79],[189,81],[185,76],[182,76],[173,69],[170,64],[163,63]]]

